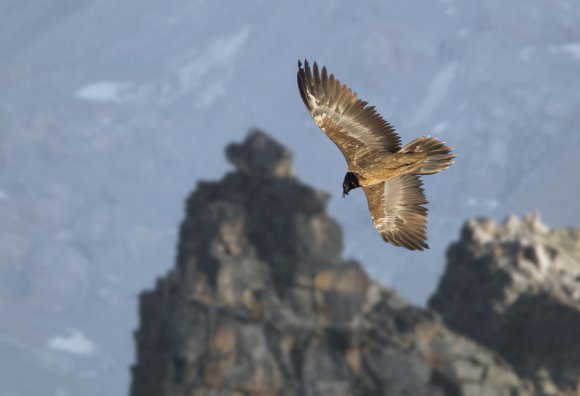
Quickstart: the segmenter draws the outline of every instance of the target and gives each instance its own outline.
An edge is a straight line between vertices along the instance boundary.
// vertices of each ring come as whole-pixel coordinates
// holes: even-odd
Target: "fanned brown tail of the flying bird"
[[[425,153],[427,154],[418,175],[431,175],[449,168],[453,164],[455,154],[453,148],[446,146],[444,142],[432,137],[420,137],[401,149],[401,153]]]

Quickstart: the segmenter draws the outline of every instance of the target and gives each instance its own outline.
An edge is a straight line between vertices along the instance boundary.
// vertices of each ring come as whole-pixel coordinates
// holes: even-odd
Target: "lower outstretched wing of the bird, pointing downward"
[[[410,250],[427,245],[427,203],[419,176],[403,175],[363,187],[375,227],[385,242]]]

